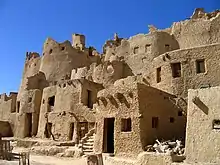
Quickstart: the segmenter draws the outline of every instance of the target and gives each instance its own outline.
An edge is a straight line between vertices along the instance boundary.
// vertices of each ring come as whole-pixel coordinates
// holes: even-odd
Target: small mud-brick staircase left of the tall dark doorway
[[[95,129],[91,129],[85,137],[79,142],[79,148],[82,150],[84,155],[93,153],[93,145],[95,139]]]

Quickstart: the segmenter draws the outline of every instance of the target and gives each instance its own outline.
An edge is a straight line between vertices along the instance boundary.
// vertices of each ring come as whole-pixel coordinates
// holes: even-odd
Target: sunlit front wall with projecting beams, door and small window
[[[104,126],[106,118],[115,118],[114,121],[114,154],[128,157],[137,156],[142,151],[139,132],[139,103],[137,86],[133,81],[123,80],[110,89],[98,93],[96,109],[96,137],[94,150],[103,152]],[[122,131],[122,119],[131,119],[131,131]]]

